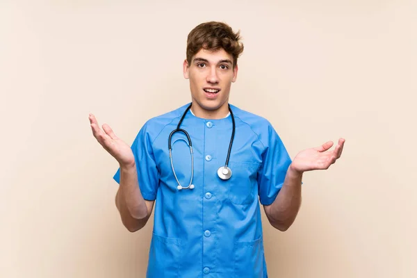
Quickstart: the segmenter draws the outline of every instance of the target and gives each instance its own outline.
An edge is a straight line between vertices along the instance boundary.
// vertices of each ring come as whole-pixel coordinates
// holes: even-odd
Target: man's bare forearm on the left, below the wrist
[[[120,166],[120,188],[116,195],[122,222],[129,231],[142,229],[147,222],[147,206],[140,193],[136,165]]]

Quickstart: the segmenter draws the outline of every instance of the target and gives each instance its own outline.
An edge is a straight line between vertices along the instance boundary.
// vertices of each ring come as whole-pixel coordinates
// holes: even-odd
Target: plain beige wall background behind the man
[[[263,218],[270,277],[417,277],[416,3],[2,0],[0,277],[145,276],[153,220],[122,226],[88,113],[131,144],[190,101],[186,35],[209,20],[244,38],[231,103],[292,157],[346,139],[293,227]]]

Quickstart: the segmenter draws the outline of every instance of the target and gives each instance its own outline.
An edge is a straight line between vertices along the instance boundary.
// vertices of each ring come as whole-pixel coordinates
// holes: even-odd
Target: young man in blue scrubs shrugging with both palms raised
[[[242,51],[226,24],[195,27],[183,63],[192,101],[148,120],[131,147],[90,114],[95,138],[120,163],[124,226],[144,227],[156,200],[147,277],[268,277],[259,202],[286,231],[300,208],[302,174],[341,156],[343,138],[333,152],[326,142],[291,161],[268,120],[229,104]]]

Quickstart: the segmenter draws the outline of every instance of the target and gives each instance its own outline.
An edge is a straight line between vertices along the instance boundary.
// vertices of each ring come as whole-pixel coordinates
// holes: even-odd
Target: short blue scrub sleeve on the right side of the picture
[[[270,205],[275,201],[286,177],[291,158],[275,129],[268,126],[268,132],[261,136],[265,150],[262,165],[258,171],[259,201]],[[266,137],[268,136],[268,137]],[[263,139],[263,140],[262,140]]]

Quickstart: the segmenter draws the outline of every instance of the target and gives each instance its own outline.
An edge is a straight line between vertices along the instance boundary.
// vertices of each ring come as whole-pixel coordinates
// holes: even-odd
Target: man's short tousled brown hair
[[[200,49],[218,50],[224,49],[233,56],[233,66],[238,63],[238,57],[243,52],[243,43],[240,42],[240,31],[234,33],[231,27],[222,22],[205,22],[190,31],[187,38],[187,61]]]

